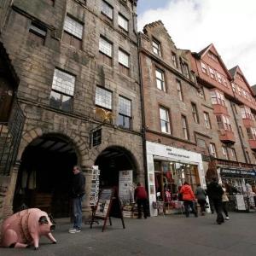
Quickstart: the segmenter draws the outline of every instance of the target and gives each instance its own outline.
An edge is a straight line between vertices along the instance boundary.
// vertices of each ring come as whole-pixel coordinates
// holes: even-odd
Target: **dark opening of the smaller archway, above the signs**
[[[98,155],[96,166],[99,166],[100,187],[119,187],[120,171],[132,171],[133,181],[137,178],[137,165],[133,155],[125,148],[113,146],[106,148]]]

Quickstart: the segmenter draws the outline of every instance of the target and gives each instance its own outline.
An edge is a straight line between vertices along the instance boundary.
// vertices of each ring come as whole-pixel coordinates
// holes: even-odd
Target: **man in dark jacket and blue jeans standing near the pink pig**
[[[72,197],[73,197],[73,229],[69,233],[79,233],[82,227],[82,201],[85,194],[85,177],[79,166],[73,166],[73,182],[72,182]]]

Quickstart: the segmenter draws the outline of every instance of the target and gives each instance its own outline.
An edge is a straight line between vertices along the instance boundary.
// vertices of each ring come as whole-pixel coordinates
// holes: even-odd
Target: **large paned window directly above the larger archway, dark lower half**
[[[72,110],[75,77],[55,68],[49,105],[63,111]]]

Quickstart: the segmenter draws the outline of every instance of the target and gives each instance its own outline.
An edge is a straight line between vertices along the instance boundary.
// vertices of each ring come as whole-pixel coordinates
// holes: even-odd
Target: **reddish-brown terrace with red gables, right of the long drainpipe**
[[[245,191],[255,183],[255,125],[245,113],[256,106],[246,80],[239,97],[232,90],[238,82],[213,44],[200,53],[177,49],[160,20],[144,26],[139,48],[149,200],[165,201],[172,212],[180,207],[179,185],[206,187],[213,175]],[[227,176],[233,171],[239,180]]]

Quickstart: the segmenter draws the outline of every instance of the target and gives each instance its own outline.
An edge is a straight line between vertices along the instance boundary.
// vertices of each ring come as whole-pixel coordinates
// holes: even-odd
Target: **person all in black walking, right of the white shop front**
[[[222,195],[224,191],[217,182],[217,177],[212,177],[212,182],[208,185],[207,195],[212,200],[215,211],[217,213],[217,223],[224,223],[224,217],[222,215]]]

